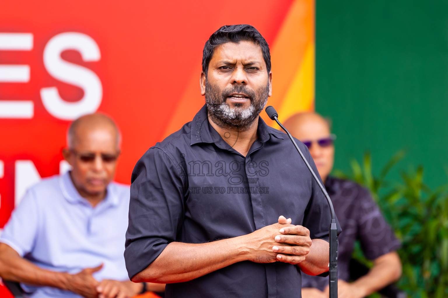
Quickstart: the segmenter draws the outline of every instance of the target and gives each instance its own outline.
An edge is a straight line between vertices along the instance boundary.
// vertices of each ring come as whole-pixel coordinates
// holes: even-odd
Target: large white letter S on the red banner
[[[52,77],[84,90],[84,97],[76,102],[64,101],[56,87],[42,88],[40,96],[48,113],[62,120],[74,120],[94,113],[103,97],[103,87],[95,72],[86,67],[69,63],[60,57],[65,50],[77,50],[86,62],[101,58],[99,47],[88,35],[78,32],[57,34],[43,50],[43,64]]]

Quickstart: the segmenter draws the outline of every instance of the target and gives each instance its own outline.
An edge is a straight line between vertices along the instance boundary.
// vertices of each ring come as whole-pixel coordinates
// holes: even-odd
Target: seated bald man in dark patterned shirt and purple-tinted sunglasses
[[[400,242],[369,191],[352,181],[329,176],[335,152],[335,136],[330,132],[329,123],[316,113],[299,113],[289,118],[284,126],[310,150],[343,231],[338,237],[338,297],[366,297],[398,280],[401,262],[396,249]],[[348,283],[349,260],[357,239],[364,255],[373,260],[374,265],[367,275]],[[328,297],[328,278],[303,274],[302,297]]]

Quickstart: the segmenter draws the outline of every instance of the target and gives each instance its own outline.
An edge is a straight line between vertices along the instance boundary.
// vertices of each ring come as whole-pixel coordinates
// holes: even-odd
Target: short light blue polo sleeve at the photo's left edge
[[[13,210],[4,227],[0,242],[8,244],[20,256],[34,248],[39,229],[39,209],[32,189],[29,189],[19,206]]]

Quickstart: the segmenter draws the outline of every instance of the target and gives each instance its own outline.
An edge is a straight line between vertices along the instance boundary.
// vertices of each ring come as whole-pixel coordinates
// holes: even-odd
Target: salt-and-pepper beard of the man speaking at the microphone
[[[248,130],[267,103],[269,84],[266,88],[260,88],[254,92],[246,86],[234,86],[226,88],[222,92],[216,86],[210,86],[206,80],[205,103],[207,111],[213,122],[221,128],[237,128]],[[250,98],[250,106],[246,109],[241,104],[231,108],[225,101],[232,93],[245,93]]]

